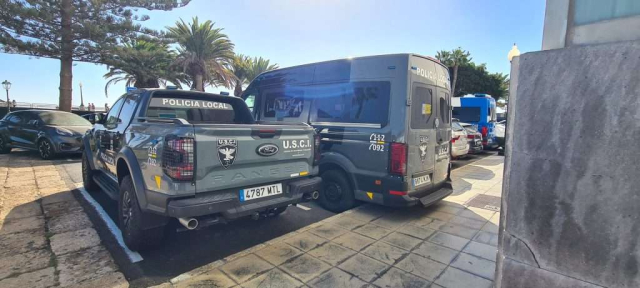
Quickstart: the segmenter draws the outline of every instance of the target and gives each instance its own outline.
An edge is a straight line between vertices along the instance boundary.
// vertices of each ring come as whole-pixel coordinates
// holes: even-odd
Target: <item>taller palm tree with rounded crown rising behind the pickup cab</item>
[[[233,59],[233,43],[222,33],[222,28],[214,28],[210,20],[200,24],[198,17],[191,24],[184,20],[176,22],[174,27],[167,27],[168,37],[176,41],[178,57],[175,64],[193,81],[198,91],[204,91],[204,85],[232,85],[232,74],[228,66]]]

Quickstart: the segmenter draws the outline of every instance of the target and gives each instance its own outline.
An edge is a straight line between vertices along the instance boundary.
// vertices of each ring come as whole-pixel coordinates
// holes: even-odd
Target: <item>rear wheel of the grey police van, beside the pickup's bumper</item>
[[[342,172],[336,170],[324,172],[322,188],[320,205],[331,212],[340,213],[349,210],[356,203],[349,180]]]

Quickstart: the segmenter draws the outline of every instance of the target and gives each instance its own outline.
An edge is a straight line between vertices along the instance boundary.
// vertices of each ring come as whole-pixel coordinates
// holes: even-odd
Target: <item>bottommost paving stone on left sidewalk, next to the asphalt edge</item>
[[[63,287],[96,280],[118,270],[109,251],[102,246],[58,256],[57,259],[58,281]]]

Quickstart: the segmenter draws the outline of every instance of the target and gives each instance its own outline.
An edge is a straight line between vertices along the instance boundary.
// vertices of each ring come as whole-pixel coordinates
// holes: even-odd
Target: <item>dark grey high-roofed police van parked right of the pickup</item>
[[[304,122],[320,134],[326,209],[427,206],[452,192],[449,83],[434,58],[380,55],[265,72],[242,98],[257,120]]]

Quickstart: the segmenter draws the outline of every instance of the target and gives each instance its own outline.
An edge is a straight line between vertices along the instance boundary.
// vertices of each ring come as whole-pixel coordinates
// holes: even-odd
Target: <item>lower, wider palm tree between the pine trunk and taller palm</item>
[[[115,48],[103,62],[109,72],[105,95],[112,84],[126,81],[136,88],[158,88],[167,81],[180,86],[180,73],[171,69],[176,55],[169,46],[145,40],[132,40]]]

